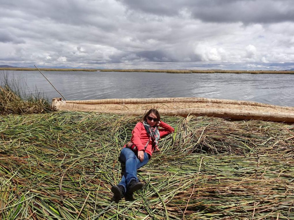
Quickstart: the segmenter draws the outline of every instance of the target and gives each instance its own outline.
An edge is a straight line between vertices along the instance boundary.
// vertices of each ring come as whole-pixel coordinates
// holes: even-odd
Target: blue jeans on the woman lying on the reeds
[[[140,162],[137,155],[130,148],[123,148],[121,150],[121,154],[119,156],[121,162],[126,164],[126,169],[121,178],[121,182],[118,185],[122,185],[125,188],[125,192],[127,191],[127,185],[131,182],[131,180],[136,180],[137,182],[137,170],[140,167],[143,167],[149,160],[148,154],[144,152],[144,160]]]

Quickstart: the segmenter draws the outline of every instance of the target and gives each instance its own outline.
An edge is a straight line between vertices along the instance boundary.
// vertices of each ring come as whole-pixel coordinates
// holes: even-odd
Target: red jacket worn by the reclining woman
[[[164,123],[163,121],[160,122],[158,127],[161,127],[161,128],[158,128],[160,137],[166,136],[167,134],[175,131],[175,129],[172,126],[168,125],[167,123]],[[144,147],[145,147],[146,143],[148,142],[148,140],[149,140],[149,135],[148,135],[143,123],[138,122],[132,131],[131,142],[137,146],[138,151],[139,150],[144,151]],[[148,153],[151,157],[151,155],[152,155],[152,140],[149,141],[145,152]]]

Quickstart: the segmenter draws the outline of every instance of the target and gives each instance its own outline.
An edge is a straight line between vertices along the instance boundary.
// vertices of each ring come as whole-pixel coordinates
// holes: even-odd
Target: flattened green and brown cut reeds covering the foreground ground
[[[294,219],[294,125],[169,117],[174,134],[111,201],[136,116],[0,116],[0,219]]]

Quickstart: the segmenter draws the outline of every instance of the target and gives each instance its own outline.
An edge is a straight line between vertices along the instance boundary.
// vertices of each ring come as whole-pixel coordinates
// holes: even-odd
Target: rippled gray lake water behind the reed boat
[[[294,75],[42,71],[67,100],[205,97],[294,106]],[[60,97],[39,71],[1,71],[20,87]]]

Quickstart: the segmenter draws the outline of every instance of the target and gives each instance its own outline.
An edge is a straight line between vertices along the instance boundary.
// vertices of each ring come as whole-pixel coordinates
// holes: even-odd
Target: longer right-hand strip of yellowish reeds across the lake
[[[102,69],[100,72],[165,72],[165,73],[249,73],[249,74],[294,74],[294,71],[272,70],[149,70],[149,69]]]

